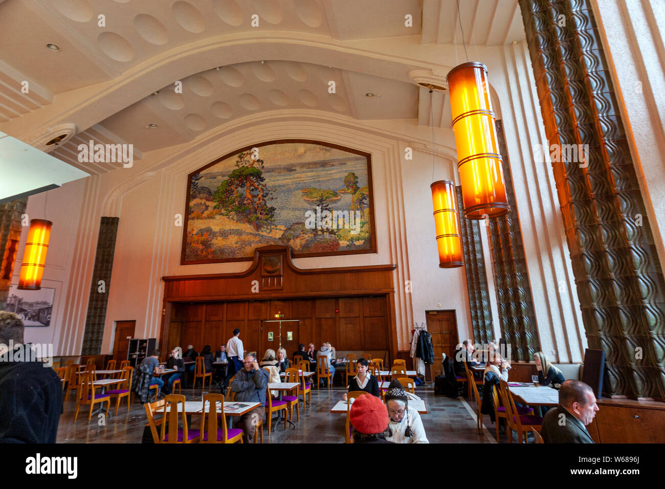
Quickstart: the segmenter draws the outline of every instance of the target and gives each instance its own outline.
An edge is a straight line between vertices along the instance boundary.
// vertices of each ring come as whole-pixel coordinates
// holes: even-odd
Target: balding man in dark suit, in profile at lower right
[[[587,431],[596,411],[596,396],[581,381],[565,381],[559,389],[559,406],[543,418],[541,436],[545,443],[593,443]]]

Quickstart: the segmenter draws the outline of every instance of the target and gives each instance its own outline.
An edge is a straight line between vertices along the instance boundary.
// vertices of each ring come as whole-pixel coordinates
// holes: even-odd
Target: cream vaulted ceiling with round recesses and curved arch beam
[[[469,54],[525,37],[517,0],[0,0],[0,130],[45,150],[66,132],[55,156],[100,174],[122,163],[78,144],[139,159],[263,111],[448,128],[418,82],[445,84],[462,31]]]

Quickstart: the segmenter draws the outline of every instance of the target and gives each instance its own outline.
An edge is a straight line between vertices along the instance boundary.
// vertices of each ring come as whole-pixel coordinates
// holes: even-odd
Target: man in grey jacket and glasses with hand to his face
[[[254,432],[259,419],[265,414],[265,389],[268,387],[268,372],[259,367],[256,355],[249,353],[243,362],[244,369],[235,374],[231,392],[240,403],[260,403],[240,416],[237,427],[243,430],[243,443],[254,442]]]

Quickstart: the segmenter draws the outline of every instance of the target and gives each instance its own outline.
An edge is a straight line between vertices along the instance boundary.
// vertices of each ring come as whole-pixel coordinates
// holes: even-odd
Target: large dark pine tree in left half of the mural
[[[238,154],[235,170],[215,190],[215,209],[223,216],[247,222],[255,230],[275,220],[275,208],[268,205],[273,197],[263,183],[263,160],[253,159],[251,150]]]

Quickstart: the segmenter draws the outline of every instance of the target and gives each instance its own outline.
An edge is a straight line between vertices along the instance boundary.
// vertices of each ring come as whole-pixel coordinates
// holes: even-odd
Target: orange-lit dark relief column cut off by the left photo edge
[[[19,253],[21,241],[21,215],[25,212],[28,198],[0,204],[0,311],[7,305],[7,293]]]

